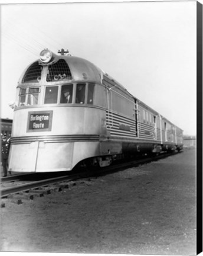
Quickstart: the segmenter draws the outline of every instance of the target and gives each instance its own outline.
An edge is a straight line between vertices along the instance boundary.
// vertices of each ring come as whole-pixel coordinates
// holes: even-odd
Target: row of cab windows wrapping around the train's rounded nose
[[[68,84],[45,87],[44,104],[93,104],[95,84]],[[19,92],[19,106],[37,105],[40,88],[21,88]],[[59,100],[58,100],[59,98]]]

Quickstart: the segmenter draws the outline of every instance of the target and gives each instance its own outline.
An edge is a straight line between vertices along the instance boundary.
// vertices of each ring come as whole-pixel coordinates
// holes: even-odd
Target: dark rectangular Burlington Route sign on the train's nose
[[[38,111],[28,113],[28,132],[50,131],[53,111]]]

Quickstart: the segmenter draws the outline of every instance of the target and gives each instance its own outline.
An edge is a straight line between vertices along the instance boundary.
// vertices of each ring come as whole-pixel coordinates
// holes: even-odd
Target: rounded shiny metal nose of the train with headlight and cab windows
[[[100,70],[87,60],[42,50],[22,73],[9,153],[9,171],[68,171],[100,155],[105,88]]]

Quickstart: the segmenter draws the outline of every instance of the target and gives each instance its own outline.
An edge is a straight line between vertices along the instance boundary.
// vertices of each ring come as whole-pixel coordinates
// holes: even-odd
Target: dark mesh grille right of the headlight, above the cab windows
[[[66,60],[60,59],[57,63],[48,66],[47,82],[63,79],[72,79],[72,76]]]

